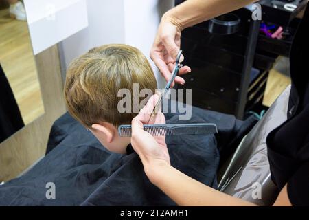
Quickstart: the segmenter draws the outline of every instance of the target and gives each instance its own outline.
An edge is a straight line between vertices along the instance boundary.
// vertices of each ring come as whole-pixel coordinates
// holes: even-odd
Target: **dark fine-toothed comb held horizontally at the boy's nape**
[[[218,133],[216,124],[144,124],[144,131],[152,136],[164,135],[209,135]],[[132,126],[130,124],[120,125],[118,128],[120,137],[131,137]]]

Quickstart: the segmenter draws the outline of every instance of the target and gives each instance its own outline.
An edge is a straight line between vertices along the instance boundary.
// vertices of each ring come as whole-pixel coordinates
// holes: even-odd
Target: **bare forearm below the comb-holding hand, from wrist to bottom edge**
[[[179,206],[255,206],[253,203],[214,190],[166,164],[146,166],[146,174]]]

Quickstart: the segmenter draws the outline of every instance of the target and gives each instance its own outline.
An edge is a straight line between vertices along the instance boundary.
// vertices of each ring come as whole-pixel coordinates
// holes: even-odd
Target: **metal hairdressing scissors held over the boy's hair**
[[[155,115],[157,115],[159,109],[161,108],[161,102],[163,100],[163,97],[165,97],[165,95],[168,93],[168,90],[170,89],[170,85],[172,85],[172,82],[174,81],[174,79],[176,78],[179,69],[181,69],[181,67],[183,67],[183,65],[180,63],[180,58],[181,58],[181,54],[183,53],[182,50],[179,50],[177,56],[176,56],[176,61],[175,61],[175,67],[172,71],[172,77],[170,78],[170,80],[168,80],[168,83],[165,85],[165,88],[163,89],[163,92],[161,92],[160,98],[157,102],[157,104],[155,105],[155,109],[153,109],[150,118],[148,120],[148,124],[151,120],[151,118],[155,117]]]

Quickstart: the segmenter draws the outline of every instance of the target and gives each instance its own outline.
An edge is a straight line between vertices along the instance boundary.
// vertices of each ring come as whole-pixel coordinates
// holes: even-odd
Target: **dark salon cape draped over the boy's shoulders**
[[[172,166],[203,184],[217,187],[219,151],[235,146],[256,120],[192,107],[190,122],[212,122],[215,135],[167,136]],[[181,123],[172,113],[166,121]],[[239,137],[239,138],[238,138]],[[233,146],[231,148],[231,146]],[[235,150],[235,148],[234,148]],[[55,198],[51,197],[54,183]],[[49,193],[50,192],[50,193]],[[47,199],[46,194],[49,195]],[[68,113],[52,126],[47,155],[21,177],[0,186],[0,206],[174,206],[148,180],[136,153],[107,151]]]

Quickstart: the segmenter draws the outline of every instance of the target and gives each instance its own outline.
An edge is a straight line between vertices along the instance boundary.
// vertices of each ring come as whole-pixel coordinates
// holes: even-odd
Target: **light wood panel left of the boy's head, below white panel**
[[[58,47],[36,55],[45,113],[0,144],[0,182],[19,175],[42,157],[52,123],[65,113]]]

